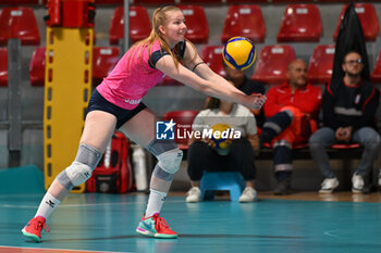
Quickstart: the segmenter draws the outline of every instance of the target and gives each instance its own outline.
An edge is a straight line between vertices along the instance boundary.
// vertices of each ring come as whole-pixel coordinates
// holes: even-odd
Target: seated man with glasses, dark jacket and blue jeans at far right
[[[364,147],[360,164],[352,177],[352,191],[362,192],[365,177],[380,153],[380,136],[372,128],[379,92],[361,78],[364,64],[358,52],[343,59],[344,78],[332,79],[322,99],[323,127],[309,139],[311,156],[324,176],[319,192],[331,193],[339,180],[332,172],[325,148],[334,143],[357,142]]]

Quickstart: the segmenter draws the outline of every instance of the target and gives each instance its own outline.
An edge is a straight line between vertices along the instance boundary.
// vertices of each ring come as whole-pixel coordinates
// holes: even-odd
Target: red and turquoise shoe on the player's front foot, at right
[[[177,238],[177,233],[171,230],[165,219],[159,217],[158,213],[147,218],[143,215],[136,231],[155,238]]]

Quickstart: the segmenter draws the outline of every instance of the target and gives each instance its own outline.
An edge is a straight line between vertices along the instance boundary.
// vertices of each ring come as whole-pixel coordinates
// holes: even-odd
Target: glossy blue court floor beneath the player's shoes
[[[380,203],[260,199],[188,204],[183,197],[169,197],[161,216],[179,239],[152,239],[135,232],[146,194],[71,193],[48,220],[51,231],[35,243],[21,229],[41,198],[0,195],[0,252],[381,252]]]

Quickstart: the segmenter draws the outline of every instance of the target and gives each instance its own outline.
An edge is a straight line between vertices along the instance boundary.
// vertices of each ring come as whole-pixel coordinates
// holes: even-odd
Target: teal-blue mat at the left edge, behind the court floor
[[[0,169],[0,194],[45,192],[44,173],[36,165]]]

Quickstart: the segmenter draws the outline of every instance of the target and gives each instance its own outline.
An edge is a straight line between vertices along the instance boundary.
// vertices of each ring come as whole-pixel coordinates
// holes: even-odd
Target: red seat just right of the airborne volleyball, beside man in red
[[[280,84],[287,79],[287,65],[296,59],[294,48],[291,46],[265,46],[260,50],[254,80],[266,84]]]

